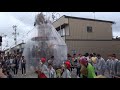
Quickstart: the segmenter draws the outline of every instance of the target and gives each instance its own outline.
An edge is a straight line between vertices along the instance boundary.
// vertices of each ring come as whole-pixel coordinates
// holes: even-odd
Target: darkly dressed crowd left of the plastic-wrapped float
[[[0,78],[14,78],[21,70],[26,75],[26,60],[20,55],[2,55],[0,57]]]

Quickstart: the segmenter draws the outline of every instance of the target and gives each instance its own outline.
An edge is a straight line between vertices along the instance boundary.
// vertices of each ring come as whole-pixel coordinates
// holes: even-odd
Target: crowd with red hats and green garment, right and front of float
[[[53,58],[52,58],[53,59]],[[47,63],[47,64],[46,64]],[[115,54],[105,60],[100,54],[68,54],[68,60],[60,67],[54,68],[52,60],[40,59],[38,78],[72,78],[76,69],[76,78],[119,78],[120,61]]]

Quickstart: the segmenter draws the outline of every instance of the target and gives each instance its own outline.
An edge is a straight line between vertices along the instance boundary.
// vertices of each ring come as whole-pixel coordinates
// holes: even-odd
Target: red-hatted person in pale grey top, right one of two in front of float
[[[70,73],[70,62],[67,60],[65,63],[65,70],[62,74],[62,78],[71,78],[71,73]]]

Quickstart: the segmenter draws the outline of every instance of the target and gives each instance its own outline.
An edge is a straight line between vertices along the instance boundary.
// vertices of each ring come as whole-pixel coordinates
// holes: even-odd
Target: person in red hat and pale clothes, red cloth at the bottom
[[[38,78],[49,78],[48,68],[45,65],[46,58],[40,59]]]

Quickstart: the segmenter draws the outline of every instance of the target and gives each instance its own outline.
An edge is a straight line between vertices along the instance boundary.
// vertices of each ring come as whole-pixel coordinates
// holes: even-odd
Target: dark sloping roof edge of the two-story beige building
[[[98,20],[98,19],[91,19],[91,18],[82,18],[82,17],[74,17],[74,16],[67,16],[67,15],[63,15],[62,17],[65,17],[65,18],[72,18],[72,19],[80,19],[80,20],[89,20],[89,21],[98,21],[98,22],[106,22],[106,23],[112,23],[112,24],[115,24],[115,22],[113,21],[107,21],[107,20]],[[62,18],[60,17],[60,18]],[[59,19],[60,19],[59,18]],[[58,20],[59,20],[58,19]],[[58,21],[56,20],[56,21]],[[55,22],[56,22],[55,21]],[[53,22],[54,23],[54,22]]]

